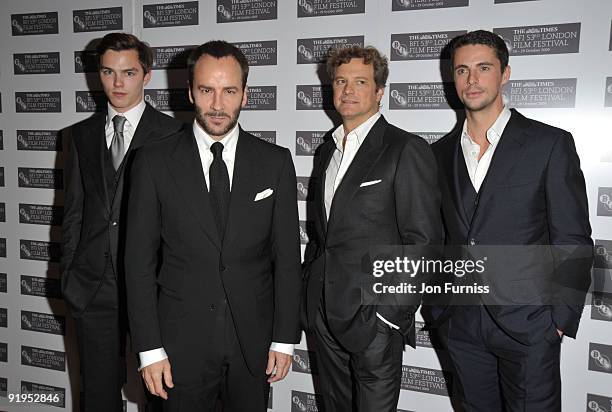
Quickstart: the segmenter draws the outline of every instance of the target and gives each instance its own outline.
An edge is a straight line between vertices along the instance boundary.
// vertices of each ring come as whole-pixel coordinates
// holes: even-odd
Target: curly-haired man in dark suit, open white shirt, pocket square
[[[305,322],[325,410],[395,411],[420,295],[375,305],[362,301],[362,282],[372,278],[370,248],[441,244],[436,164],[423,139],[380,114],[389,70],[375,48],[341,49],[327,69],[342,125],[315,157]]]

